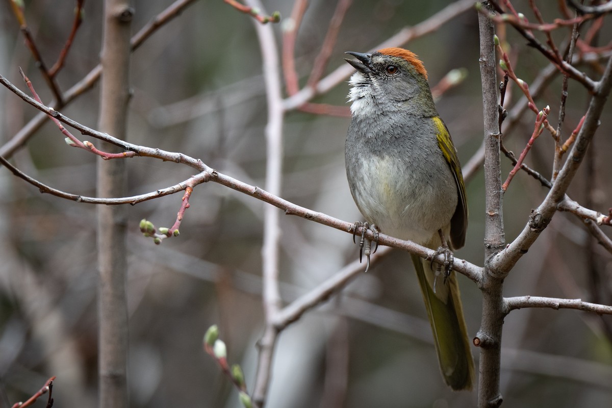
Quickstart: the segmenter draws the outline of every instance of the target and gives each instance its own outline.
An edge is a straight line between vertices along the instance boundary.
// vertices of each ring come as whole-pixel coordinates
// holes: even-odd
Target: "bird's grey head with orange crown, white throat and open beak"
[[[418,108],[429,111],[435,106],[427,82],[427,71],[416,54],[403,48],[383,48],[375,53],[347,52],[357,58],[346,59],[357,72],[349,84],[353,116],[373,116],[381,112]],[[417,106],[418,105],[418,106]]]

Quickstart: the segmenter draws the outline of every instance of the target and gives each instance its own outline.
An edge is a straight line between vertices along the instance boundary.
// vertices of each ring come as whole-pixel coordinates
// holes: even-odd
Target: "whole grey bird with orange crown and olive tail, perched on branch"
[[[416,54],[402,48],[347,54],[358,60],[346,59],[357,70],[349,81],[351,125],[345,146],[351,194],[375,233],[449,256],[446,276],[440,279],[430,262],[416,255],[412,261],[442,376],[453,390],[469,390],[474,359],[446,243],[453,249],[463,247],[468,224],[457,151]]]

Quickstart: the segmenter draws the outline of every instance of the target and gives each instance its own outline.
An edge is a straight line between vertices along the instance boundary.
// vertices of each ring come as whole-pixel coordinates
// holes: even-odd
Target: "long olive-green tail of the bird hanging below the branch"
[[[468,329],[463,318],[455,271],[451,271],[446,283],[443,283],[442,276],[436,281],[428,261],[412,254],[412,262],[425,299],[444,381],[453,390],[471,390],[474,382],[474,358],[468,341]]]

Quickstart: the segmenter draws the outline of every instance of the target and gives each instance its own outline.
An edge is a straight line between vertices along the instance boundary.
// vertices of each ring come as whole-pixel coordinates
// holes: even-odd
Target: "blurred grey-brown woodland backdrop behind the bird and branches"
[[[344,51],[365,52],[450,2],[354,1],[340,29],[326,73],[346,64]],[[133,1],[133,32],[171,4]],[[293,2],[264,2],[267,12],[291,15]],[[527,1],[513,2],[535,21]],[[308,78],[336,1],[312,0],[297,34],[296,67]],[[550,6],[550,4],[549,4]],[[541,7],[544,7],[543,5]],[[43,59],[51,65],[72,24],[73,2],[26,1],[26,18]],[[65,67],[62,90],[99,62],[101,2],[85,2],[85,19]],[[547,21],[560,17],[542,8]],[[612,34],[603,20],[600,45]],[[279,50],[283,21],[274,31]],[[532,83],[547,61],[507,28],[517,75]],[[554,34],[561,44],[567,30]],[[542,40],[545,40],[540,36]],[[465,68],[463,83],[439,98],[463,164],[482,142],[479,43],[475,10],[461,13],[406,48],[424,61],[432,85],[452,69]],[[10,10],[0,3],[0,73],[20,89],[22,67],[43,101],[51,99]],[[597,64],[581,69],[599,78]],[[261,54],[252,18],[221,0],[195,2],[133,53],[129,141],[184,152],[252,185],[265,176],[266,96]],[[561,78],[553,76],[536,99],[550,105],[557,125]],[[348,106],[342,82],[314,102]],[[516,87],[507,96],[519,100]],[[97,124],[99,88],[81,95],[62,113]],[[584,114],[588,94],[570,83],[564,136]],[[592,209],[612,206],[612,107],[570,195]],[[0,146],[37,111],[2,87]],[[282,197],[346,221],[360,220],[346,182],[344,140],[349,119],[291,112],[283,128]],[[520,152],[534,123],[527,113],[504,144]],[[76,135],[76,133],[75,133]],[[72,149],[47,122],[12,162],[54,188],[95,195],[94,155]],[[550,178],[553,140],[543,133],[526,163]],[[502,177],[511,169],[505,158]],[[127,160],[129,194],[167,187],[192,170],[149,158]],[[467,184],[469,229],[459,258],[483,263],[482,166]],[[519,173],[504,201],[506,239],[523,229],[546,195],[539,182]],[[206,329],[218,324],[230,363],[240,363],[247,387],[255,376],[256,342],[262,334],[261,245],[263,202],[221,185],[195,188],[181,236],[156,246],[138,229],[141,218],[171,226],[182,194],[129,207],[129,387],[133,407],[238,407],[237,393],[203,351]],[[97,406],[97,268],[95,207],[39,191],[0,169],[0,406],[10,407],[39,390],[51,376],[56,407]],[[282,217],[282,295],[290,302],[317,286],[359,250],[351,236],[297,217]],[[610,228],[604,228],[611,236]],[[506,296],[580,297],[612,303],[612,256],[597,245],[582,221],[559,213],[510,273]],[[460,277],[469,332],[480,322],[478,288]],[[280,336],[267,407],[468,407],[476,391],[453,393],[439,374],[422,295],[407,253],[394,251],[361,274],[341,294],[308,312]],[[608,406],[612,399],[612,316],[578,311],[518,310],[507,316],[502,343],[505,406]],[[474,357],[478,351],[474,349]],[[46,399],[45,399],[46,401]],[[39,401],[37,406],[44,402]]]

